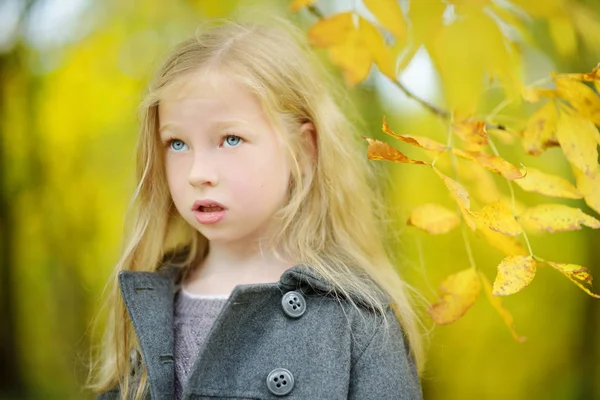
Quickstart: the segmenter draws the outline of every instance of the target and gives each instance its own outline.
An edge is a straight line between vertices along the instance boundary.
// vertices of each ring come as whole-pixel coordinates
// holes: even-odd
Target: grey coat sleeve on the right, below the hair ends
[[[408,355],[402,328],[390,307],[387,311],[387,329],[383,318],[379,316],[377,328],[352,364],[348,399],[423,398],[421,383],[413,359]]]

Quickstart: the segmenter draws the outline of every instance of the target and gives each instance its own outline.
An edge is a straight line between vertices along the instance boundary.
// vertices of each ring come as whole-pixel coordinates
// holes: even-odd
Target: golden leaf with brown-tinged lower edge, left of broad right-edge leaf
[[[523,131],[523,148],[533,156],[539,156],[548,147],[558,146],[556,124],[558,114],[554,102],[540,107],[527,122]]]

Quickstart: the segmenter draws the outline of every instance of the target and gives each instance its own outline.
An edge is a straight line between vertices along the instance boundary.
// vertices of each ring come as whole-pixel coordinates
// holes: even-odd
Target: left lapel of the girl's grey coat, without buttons
[[[151,397],[171,399],[175,379],[173,274],[122,271],[119,286],[148,370]]]

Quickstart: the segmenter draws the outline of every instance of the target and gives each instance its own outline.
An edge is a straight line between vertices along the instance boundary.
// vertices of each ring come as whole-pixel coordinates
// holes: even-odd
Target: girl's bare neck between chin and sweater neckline
[[[211,243],[206,258],[194,268],[183,286],[195,294],[228,294],[240,284],[277,282],[293,265],[294,262],[278,259],[272,251]]]

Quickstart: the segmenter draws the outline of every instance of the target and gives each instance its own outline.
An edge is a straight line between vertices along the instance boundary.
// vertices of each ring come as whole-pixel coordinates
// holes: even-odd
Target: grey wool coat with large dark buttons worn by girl
[[[148,398],[174,392],[173,299],[179,269],[119,273],[150,382]],[[279,282],[238,285],[209,332],[184,399],[422,399],[407,342],[360,298],[335,296],[304,265]],[[118,387],[100,399],[119,398]]]

